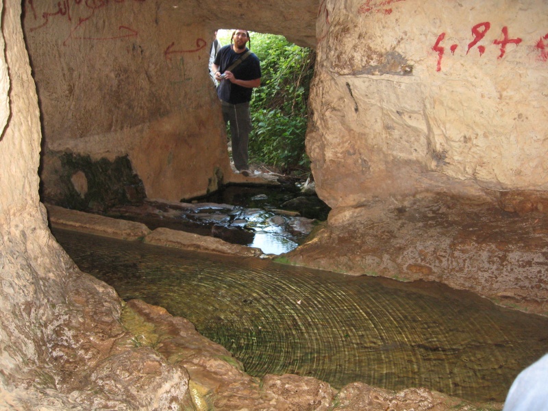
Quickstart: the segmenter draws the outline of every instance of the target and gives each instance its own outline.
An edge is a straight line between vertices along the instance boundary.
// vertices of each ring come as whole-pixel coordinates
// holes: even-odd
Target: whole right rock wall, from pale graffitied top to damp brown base
[[[288,258],[547,314],[547,13],[321,1],[306,142],[333,211]]]

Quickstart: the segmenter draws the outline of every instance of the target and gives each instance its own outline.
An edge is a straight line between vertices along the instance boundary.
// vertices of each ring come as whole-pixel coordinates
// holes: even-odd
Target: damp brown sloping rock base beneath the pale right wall
[[[548,219],[444,195],[338,208],[291,262],[353,275],[425,279],[548,314]]]

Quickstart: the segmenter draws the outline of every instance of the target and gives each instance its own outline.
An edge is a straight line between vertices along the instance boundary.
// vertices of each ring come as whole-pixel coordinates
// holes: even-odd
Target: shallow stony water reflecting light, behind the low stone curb
[[[329,207],[316,195],[297,188],[229,186],[192,202],[147,200],[138,206],[119,206],[104,214],[158,227],[220,238],[235,245],[280,254],[295,249]]]

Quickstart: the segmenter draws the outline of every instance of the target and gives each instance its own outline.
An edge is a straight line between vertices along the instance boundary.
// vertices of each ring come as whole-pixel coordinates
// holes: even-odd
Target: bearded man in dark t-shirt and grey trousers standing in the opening
[[[212,65],[219,82],[217,95],[221,99],[223,119],[230,123],[234,166],[246,177],[249,175],[247,144],[252,127],[249,101],[253,88],[261,85],[259,58],[245,47],[248,41],[247,30],[235,30],[230,44],[219,50]]]

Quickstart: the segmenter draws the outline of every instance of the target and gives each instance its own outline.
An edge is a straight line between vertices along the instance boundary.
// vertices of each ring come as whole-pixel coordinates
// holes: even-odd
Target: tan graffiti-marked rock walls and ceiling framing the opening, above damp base
[[[212,30],[240,21],[317,48],[307,147],[329,206],[547,191],[542,0],[241,1],[237,12],[214,1],[24,5],[49,197],[66,152],[127,156],[151,198],[230,180],[206,66]]]

